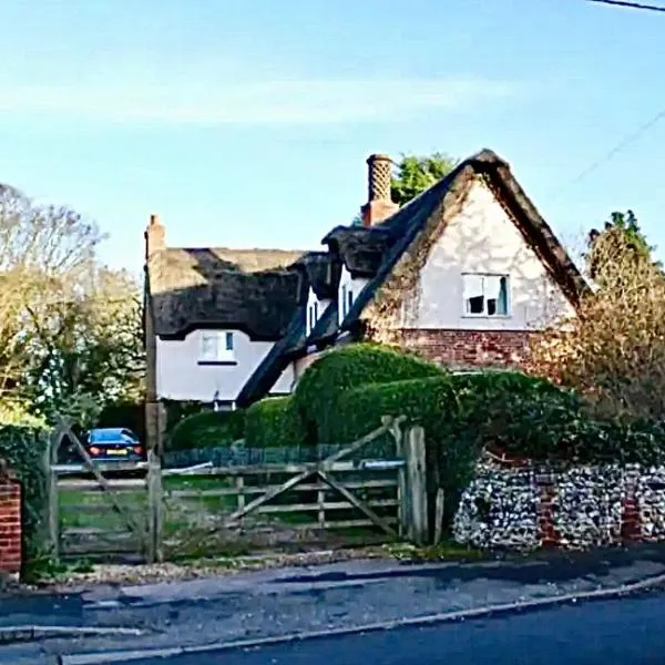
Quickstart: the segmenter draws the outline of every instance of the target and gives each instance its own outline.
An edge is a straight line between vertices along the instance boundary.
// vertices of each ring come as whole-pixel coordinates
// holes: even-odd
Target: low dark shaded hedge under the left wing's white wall
[[[166,450],[231,446],[245,434],[245,411],[203,411],[183,418],[167,434]]]

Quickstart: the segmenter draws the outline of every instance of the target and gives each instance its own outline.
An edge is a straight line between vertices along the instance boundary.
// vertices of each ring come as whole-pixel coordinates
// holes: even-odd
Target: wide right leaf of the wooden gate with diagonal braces
[[[424,442],[420,428],[402,442],[403,421],[385,418],[317,462],[164,470],[157,557],[422,540]],[[380,440],[378,456],[367,450]]]

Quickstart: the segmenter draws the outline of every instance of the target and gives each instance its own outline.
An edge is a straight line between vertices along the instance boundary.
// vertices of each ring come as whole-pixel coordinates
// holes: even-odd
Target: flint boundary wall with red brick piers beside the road
[[[483,549],[585,549],[665,541],[665,468],[483,461],[453,533]]]

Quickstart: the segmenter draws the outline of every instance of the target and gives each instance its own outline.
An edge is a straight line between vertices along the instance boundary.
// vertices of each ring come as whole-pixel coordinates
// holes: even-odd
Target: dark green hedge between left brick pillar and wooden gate
[[[0,427],[0,458],[13,471],[22,487],[23,551],[25,559],[40,553],[41,531],[47,507],[44,453],[49,442],[45,430],[27,427]]]

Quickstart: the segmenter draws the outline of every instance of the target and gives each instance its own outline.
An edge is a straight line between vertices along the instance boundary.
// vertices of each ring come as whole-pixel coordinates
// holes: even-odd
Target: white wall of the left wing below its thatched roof
[[[273,347],[272,341],[252,341],[234,330],[234,354],[237,365],[198,365],[202,330],[194,330],[183,340],[157,337],[157,396],[164,399],[209,402],[215,391],[221,400],[235,400],[238,392]],[[289,392],[294,382],[293,366],[286,368],[272,392]]]

